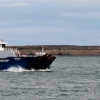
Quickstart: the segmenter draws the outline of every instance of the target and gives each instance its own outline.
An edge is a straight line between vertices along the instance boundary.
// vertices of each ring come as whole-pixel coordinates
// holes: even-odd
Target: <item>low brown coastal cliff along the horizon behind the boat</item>
[[[42,45],[8,46],[17,48],[21,54],[29,55],[41,51]],[[100,46],[43,45],[47,54],[63,56],[100,56]]]

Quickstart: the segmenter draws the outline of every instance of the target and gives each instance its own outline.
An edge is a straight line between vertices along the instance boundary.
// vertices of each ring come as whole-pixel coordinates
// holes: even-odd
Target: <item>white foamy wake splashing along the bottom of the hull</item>
[[[51,72],[50,69],[40,69],[40,70],[34,70],[34,69],[31,69],[31,70],[27,70],[27,69],[23,69],[21,66],[18,66],[18,67],[10,67],[6,70],[3,70],[3,71],[7,71],[7,72],[30,72],[30,71],[35,71],[35,72]]]

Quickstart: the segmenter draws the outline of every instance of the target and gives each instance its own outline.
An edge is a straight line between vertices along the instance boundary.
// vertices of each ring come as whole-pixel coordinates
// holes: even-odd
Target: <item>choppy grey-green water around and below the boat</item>
[[[0,100],[100,100],[100,57],[58,57],[51,70],[0,72]]]

